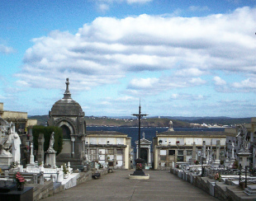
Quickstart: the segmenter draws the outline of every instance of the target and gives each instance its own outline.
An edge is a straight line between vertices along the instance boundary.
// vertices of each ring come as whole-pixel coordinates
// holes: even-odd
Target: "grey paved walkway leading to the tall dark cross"
[[[49,200],[218,200],[169,171],[145,171],[149,180],[129,180],[130,171],[114,171],[66,189]]]

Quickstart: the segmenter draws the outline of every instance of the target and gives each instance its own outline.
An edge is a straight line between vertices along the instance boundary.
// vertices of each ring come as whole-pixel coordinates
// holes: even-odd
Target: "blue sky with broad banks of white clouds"
[[[256,116],[256,0],[1,0],[0,102],[48,115]]]

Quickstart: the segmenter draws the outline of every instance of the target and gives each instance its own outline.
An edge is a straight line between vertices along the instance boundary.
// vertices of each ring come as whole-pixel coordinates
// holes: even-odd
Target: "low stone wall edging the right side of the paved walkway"
[[[177,168],[171,169],[170,172],[220,200],[256,200],[256,196],[244,194],[243,189],[239,188],[239,186],[227,185],[230,183],[229,180],[225,184],[224,180],[216,181],[212,178],[193,175],[192,172],[186,172]]]

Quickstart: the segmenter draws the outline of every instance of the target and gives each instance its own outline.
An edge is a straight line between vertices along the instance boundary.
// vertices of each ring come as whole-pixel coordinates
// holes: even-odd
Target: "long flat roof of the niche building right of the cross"
[[[156,136],[200,136],[200,137],[207,137],[207,136],[223,136],[225,137],[224,132],[220,131],[165,131],[162,133],[157,133]]]

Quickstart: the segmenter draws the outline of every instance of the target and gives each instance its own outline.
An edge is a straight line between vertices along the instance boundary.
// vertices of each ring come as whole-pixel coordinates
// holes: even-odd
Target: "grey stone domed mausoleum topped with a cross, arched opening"
[[[64,97],[55,102],[49,117],[49,126],[57,126],[63,130],[64,145],[62,152],[56,157],[56,165],[59,166],[68,161],[72,166],[83,164],[86,122],[82,107],[71,98],[69,78],[66,79]]]

